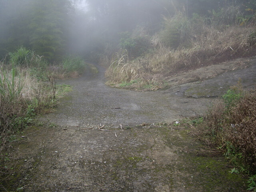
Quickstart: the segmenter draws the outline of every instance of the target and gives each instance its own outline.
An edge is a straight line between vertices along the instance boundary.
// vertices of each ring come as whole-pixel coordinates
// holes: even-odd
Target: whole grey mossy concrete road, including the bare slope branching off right
[[[18,169],[7,191],[28,192],[241,192],[246,181],[228,162],[206,150],[173,123],[200,116],[242,78],[256,83],[255,59],[236,60],[234,70],[213,66],[170,80],[171,88],[135,92],[104,85],[96,76],[59,81],[73,91],[54,112],[38,118],[11,148]],[[215,75],[213,75],[215,72]],[[214,78],[204,77],[206,73]],[[191,78],[193,79],[193,78]],[[191,80],[193,81],[193,80]],[[42,123],[43,122],[43,123]],[[167,124],[165,124],[167,123]],[[189,124],[189,123],[188,123]]]

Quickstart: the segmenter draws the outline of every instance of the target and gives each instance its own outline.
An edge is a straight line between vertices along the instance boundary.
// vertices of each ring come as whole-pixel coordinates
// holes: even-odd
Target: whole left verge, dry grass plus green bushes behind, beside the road
[[[56,106],[58,98],[72,90],[68,85],[56,85],[54,79],[77,77],[86,70],[97,72],[81,58],[68,56],[53,65],[24,47],[0,62],[0,182],[13,168],[5,151],[19,139],[16,134],[32,124],[36,114]]]

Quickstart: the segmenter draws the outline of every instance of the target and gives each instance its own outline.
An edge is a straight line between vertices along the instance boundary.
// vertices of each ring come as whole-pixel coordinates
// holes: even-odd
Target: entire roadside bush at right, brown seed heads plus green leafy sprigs
[[[233,88],[215,105],[207,126],[216,145],[226,146],[226,156],[251,174],[256,174],[256,91]]]

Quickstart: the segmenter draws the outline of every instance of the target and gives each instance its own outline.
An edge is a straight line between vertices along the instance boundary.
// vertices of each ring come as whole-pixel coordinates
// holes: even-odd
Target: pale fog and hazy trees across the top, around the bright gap
[[[77,54],[97,62],[123,35],[153,35],[175,12],[208,15],[239,0],[0,0],[0,57],[25,46],[58,60]],[[250,1],[248,1],[250,2]]]

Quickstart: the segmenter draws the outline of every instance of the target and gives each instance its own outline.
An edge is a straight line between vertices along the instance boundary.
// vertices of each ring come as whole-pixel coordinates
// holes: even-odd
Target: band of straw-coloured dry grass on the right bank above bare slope
[[[180,71],[254,54],[256,37],[252,34],[255,33],[255,27],[235,25],[218,30],[216,26],[201,23],[196,30],[197,34],[190,28],[186,45],[180,44],[177,49],[165,46],[156,34],[151,39],[154,45],[152,54],[140,60],[122,60],[113,70],[113,63],[122,58],[122,55],[116,56],[106,72],[108,84],[137,79],[140,85],[150,82],[158,82],[156,85],[159,85],[163,83],[164,77]]]

